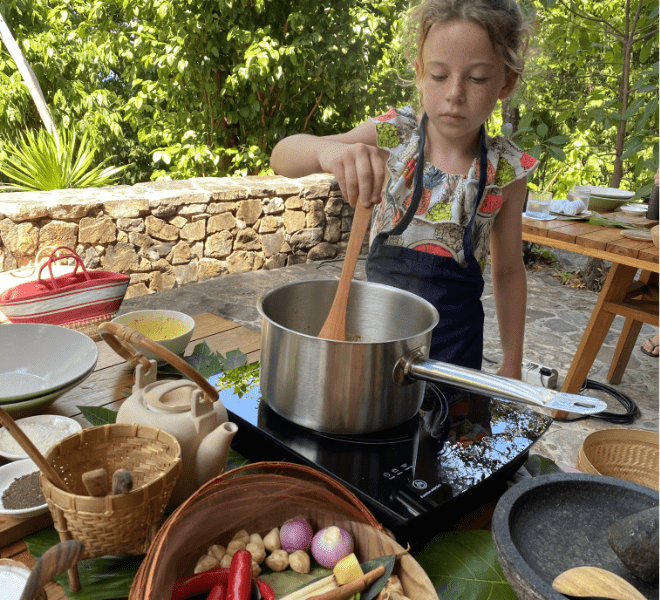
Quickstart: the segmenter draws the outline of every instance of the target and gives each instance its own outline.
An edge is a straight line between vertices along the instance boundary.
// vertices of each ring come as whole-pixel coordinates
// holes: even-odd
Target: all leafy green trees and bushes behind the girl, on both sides
[[[656,0],[529,0],[538,52],[505,134],[541,158],[530,187],[647,195],[660,165]],[[297,132],[345,131],[411,102],[404,0],[0,0],[55,122],[128,165],[123,183],[271,173]],[[491,133],[499,133],[495,115]],[[0,48],[0,134],[40,120]],[[0,141],[0,156],[6,143]],[[6,150],[5,150],[6,152]]]

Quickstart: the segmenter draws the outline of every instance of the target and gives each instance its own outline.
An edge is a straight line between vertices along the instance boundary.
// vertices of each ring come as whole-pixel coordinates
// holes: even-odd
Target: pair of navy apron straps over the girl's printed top
[[[422,198],[422,192],[424,191],[424,145],[426,144],[427,121],[428,115],[424,113],[419,124],[419,152],[415,162],[414,187],[412,198],[410,199],[410,206],[408,207],[406,213],[403,215],[403,219],[401,219],[401,221],[399,221],[392,229],[389,231],[383,231],[378,234],[377,237],[381,238],[381,241],[385,241],[390,235],[401,235],[406,227],[410,225],[410,222],[417,212],[417,207],[419,206],[419,202]],[[474,201],[474,209],[472,210],[470,221],[465,227],[465,233],[463,234],[463,251],[465,253],[466,262],[469,262],[472,258],[472,223],[474,222],[474,218],[477,215],[479,200],[484,193],[484,189],[486,189],[488,149],[486,148],[486,128],[483,125],[481,126],[479,136],[479,187],[477,188],[477,196]]]

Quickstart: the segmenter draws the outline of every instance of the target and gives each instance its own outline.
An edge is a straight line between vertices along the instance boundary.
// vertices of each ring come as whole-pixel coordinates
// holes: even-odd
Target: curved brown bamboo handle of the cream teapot
[[[218,390],[215,389],[196,369],[191,367],[180,356],[170,352],[167,348],[150,340],[147,336],[135,331],[132,327],[127,325],[120,325],[108,321],[102,323],[98,328],[99,334],[103,340],[123,359],[127,360],[134,367],[141,363],[145,369],[151,368],[151,362],[139,351],[133,348],[132,344],[140,348],[145,348],[153,352],[156,356],[167,361],[175,369],[183,373],[186,377],[190,378],[196,383],[204,392],[205,396],[211,401],[215,402],[218,399]]]

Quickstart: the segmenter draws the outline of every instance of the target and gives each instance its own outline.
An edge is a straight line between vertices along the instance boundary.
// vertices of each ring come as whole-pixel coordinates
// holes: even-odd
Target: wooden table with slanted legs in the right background
[[[620,213],[604,216],[614,218],[616,214]],[[626,215],[625,218],[646,228],[658,223],[644,217]],[[623,316],[625,324],[607,374],[609,383],[621,381],[642,324],[660,325],[660,251],[652,241],[628,239],[621,231],[618,227],[592,225],[586,221],[537,221],[523,217],[525,241],[612,263],[562,385],[564,392],[576,394],[580,391],[616,315]],[[638,271],[640,275],[635,279]],[[554,416],[566,418],[567,414],[555,411]]]

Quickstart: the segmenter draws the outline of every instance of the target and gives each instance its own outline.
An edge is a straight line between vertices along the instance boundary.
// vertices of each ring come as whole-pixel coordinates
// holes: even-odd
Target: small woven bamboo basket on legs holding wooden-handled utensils
[[[83,542],[83,558],[147,551],[181,472],[181,448],[174,436],[146,425],[90,427],[55,444],[46,460],[68,488],[60,489],[43,473],[40,476],[62,541]],[[87,495],[83,473],[101,468],[110,477],[117,469],[128,469],[131,492]]]

